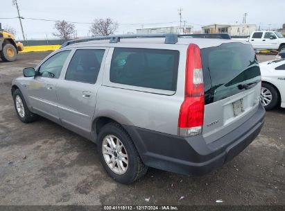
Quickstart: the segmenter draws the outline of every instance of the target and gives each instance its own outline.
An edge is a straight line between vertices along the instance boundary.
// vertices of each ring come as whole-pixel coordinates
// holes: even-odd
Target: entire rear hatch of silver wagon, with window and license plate
[[[250,44],[223,43],[200,53],[205,90],[202,135],[209,144],[257,112],[261,74]]]

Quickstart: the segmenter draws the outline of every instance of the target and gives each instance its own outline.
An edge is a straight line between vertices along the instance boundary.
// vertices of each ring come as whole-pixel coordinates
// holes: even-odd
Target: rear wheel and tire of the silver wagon
[[[107,174],[119,183],[133,183],[148,170],[126,130],[114,122],[101,129],[98,154]]]

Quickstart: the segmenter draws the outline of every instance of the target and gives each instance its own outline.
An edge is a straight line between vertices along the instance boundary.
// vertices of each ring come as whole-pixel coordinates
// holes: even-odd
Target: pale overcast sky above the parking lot
[[[242,23],[243,14],[247,24],[257,24],[263,29],[282,28],[285,23],[285,0],[17,0],[21,17],[35,19],[66,20],[91,23],[94,19],[110,17],[118,22],[117,34],[132,32],[136,28],[153,26],[178,26],[178,9],[182,8],[182,21],[199,31],[209,24]],[[22,40],[17,9],[12,0],[1,0],[0,22],[17,31],[16,39]],[[24,33],[31,39],[53,39],[54,22],[22,19]],[[90,24],[75,24],[77,36],[89,35]]]

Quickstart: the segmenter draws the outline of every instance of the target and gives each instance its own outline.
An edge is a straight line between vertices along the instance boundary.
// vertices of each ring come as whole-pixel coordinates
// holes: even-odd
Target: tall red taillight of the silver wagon
[[[196,44],[189,44],[186,62],[185,96],[180,107],[178,135],[188,137],[202,133],[204,107],[200,49]]]

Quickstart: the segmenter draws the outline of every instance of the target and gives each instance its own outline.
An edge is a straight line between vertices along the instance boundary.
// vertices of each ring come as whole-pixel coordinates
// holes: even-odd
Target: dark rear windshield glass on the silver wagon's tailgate
[[[205,104],[245,90],[241,85],[261,81],[257,57],[250,44],[224,43],[201,49]]]

